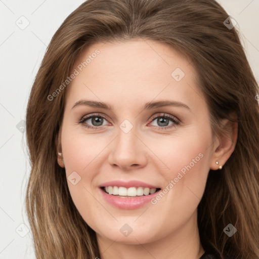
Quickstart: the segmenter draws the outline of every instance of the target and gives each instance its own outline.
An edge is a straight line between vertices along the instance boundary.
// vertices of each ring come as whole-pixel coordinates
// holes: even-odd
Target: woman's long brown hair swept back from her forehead
[[[236,115],[235,150],[222,170],[209,171],[198,205],[199,235],[204,250],[212,247],[222,258],[259,257],[258,85],[236,28],[224,24],[228,16],[214,0],[89,0],[63,22],[42,60],[27,106],[31,173],[26,209],[36,258],[100,257],[96,234],[74,206],[65,170],[57,163],[67,88],[49,96],[71,74],[83,48],[133,38],[163,42],[190,57],[214,132],[219,133],[221,119]],[[232,237],[223,231],[228,224],[237,229]]]

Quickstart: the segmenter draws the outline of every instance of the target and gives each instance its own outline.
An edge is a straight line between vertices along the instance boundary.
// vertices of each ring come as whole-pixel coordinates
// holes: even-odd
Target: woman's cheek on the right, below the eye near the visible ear
[[[160,140],[159,143],[161,147],[166,147],[156,152],[166,165],[157,167],[164,185],[161,197],[154,199],[152,204],[171,204],[168,210],[178,215],[179,211],[191,213],[202,198],[209,171],[209,127],[203,128],[203,131],[193,128],[185,135],[167,138],[164,142]]]

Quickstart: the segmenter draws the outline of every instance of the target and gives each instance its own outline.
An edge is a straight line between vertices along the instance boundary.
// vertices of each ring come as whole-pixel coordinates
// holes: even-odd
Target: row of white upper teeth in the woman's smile
[[[117,187],[117,186],[108,186],[105,187],[105,191],[109,193],[110,195],[119,195],[119,196],[143,196],[143,195],[149,195],[156,192],[155,188],[147,188],[147,187]]]

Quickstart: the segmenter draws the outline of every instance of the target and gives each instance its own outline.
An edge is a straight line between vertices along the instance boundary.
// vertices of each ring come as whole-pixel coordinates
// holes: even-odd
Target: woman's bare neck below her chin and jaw
[[[204,253],[199,239],[197,210],[184,225],[167,236],[149,243],[141,243],[137,237],[129,241],[131,244],[118,243],[97,234],[100,259],[199,259]]]

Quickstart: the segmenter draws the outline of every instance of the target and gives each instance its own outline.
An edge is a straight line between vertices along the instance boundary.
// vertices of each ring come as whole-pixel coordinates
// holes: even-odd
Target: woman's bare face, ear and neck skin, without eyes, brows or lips
[[[198,259],[204,250],[197,206],[209,169],[217,170],[234,150],[236,127],[228,138],[212,137],[197,73],[176,50],[143,39],[98,42],[80,54],[73,69],[96,49],[100,54],[66,89],[59,133],[58,163],[65,167],[67,177],[73,171],[81,177],[76,185],[68,181],[73,202],[97,234],[101,259]],[[171,76],[176,68],[185,73],[180,81]],[[113,110],[87,105],[72,108],[83,99],[107,103]],[[159,100],[181,102],[189,109],[142,110],[147,102]],[[84,126],[96,125],[91,119],[78,123],[93,113],[107,117],[99,128]],[[180,124],[168,120],[161,126],[157,118],[152,120],[152,115],[164,113],[177,117]],[[119,127],[125,119],[133,125],[128,133]],[[120,209],[107,203],[98,188],[112,180],[139,180],[163,189],[200,153],[203,157],[155,205]],[[124,224],[133,230],[128,236],[120,232]]]

